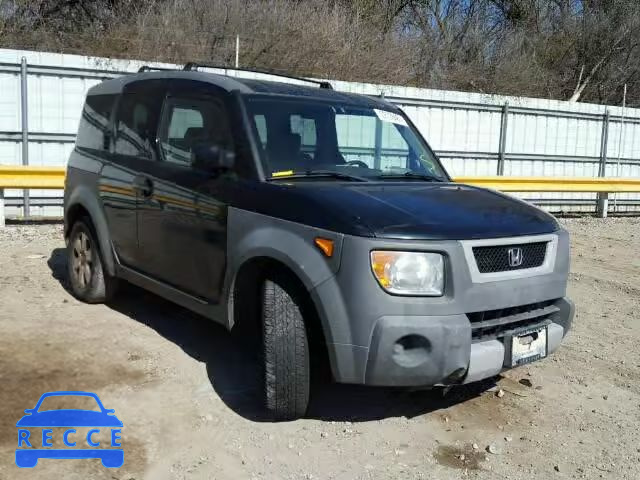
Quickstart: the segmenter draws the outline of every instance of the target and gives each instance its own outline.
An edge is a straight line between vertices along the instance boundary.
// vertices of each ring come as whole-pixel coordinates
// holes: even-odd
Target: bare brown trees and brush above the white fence
[[[0,0],[4,46],[640,104],[637,0]]]

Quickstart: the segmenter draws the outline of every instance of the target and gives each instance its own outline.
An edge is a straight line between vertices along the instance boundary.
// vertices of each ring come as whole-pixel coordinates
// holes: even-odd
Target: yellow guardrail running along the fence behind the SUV
[[[0,166],[0,189],[64,188],[63,167]],[[504,192],[640,192],[640,178],[456,177],[459,183]]]

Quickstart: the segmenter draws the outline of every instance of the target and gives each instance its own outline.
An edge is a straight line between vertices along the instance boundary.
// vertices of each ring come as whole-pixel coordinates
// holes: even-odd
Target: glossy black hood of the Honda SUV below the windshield
[[[551,233],[548,213],[517,198],[458,183],[292,182],[324,214],[356,222],[375,237],[474,239]],[[348,216],[348,220],[345,219]]]

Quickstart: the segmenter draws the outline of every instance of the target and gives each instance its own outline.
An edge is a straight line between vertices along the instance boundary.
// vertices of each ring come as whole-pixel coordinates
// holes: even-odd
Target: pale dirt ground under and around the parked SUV
[[[0,479],[638,479],[640,219],[563,222],[577,317],[555,355],[446,395],[327,385],[309,418],[284,423],[261,416],[255,368],[225,330],[133,287],[108,306],[79,303],[61,227],[9,226]],[[16,467],[16,421],[52,390],[115,409],[122,468]]]

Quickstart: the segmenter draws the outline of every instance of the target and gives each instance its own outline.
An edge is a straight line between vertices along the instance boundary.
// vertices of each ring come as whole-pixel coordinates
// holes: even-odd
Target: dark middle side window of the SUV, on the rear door
[[[122,95],[116,120],[117,154],[153,159],[161,101],[152,92],[125,92]]]

